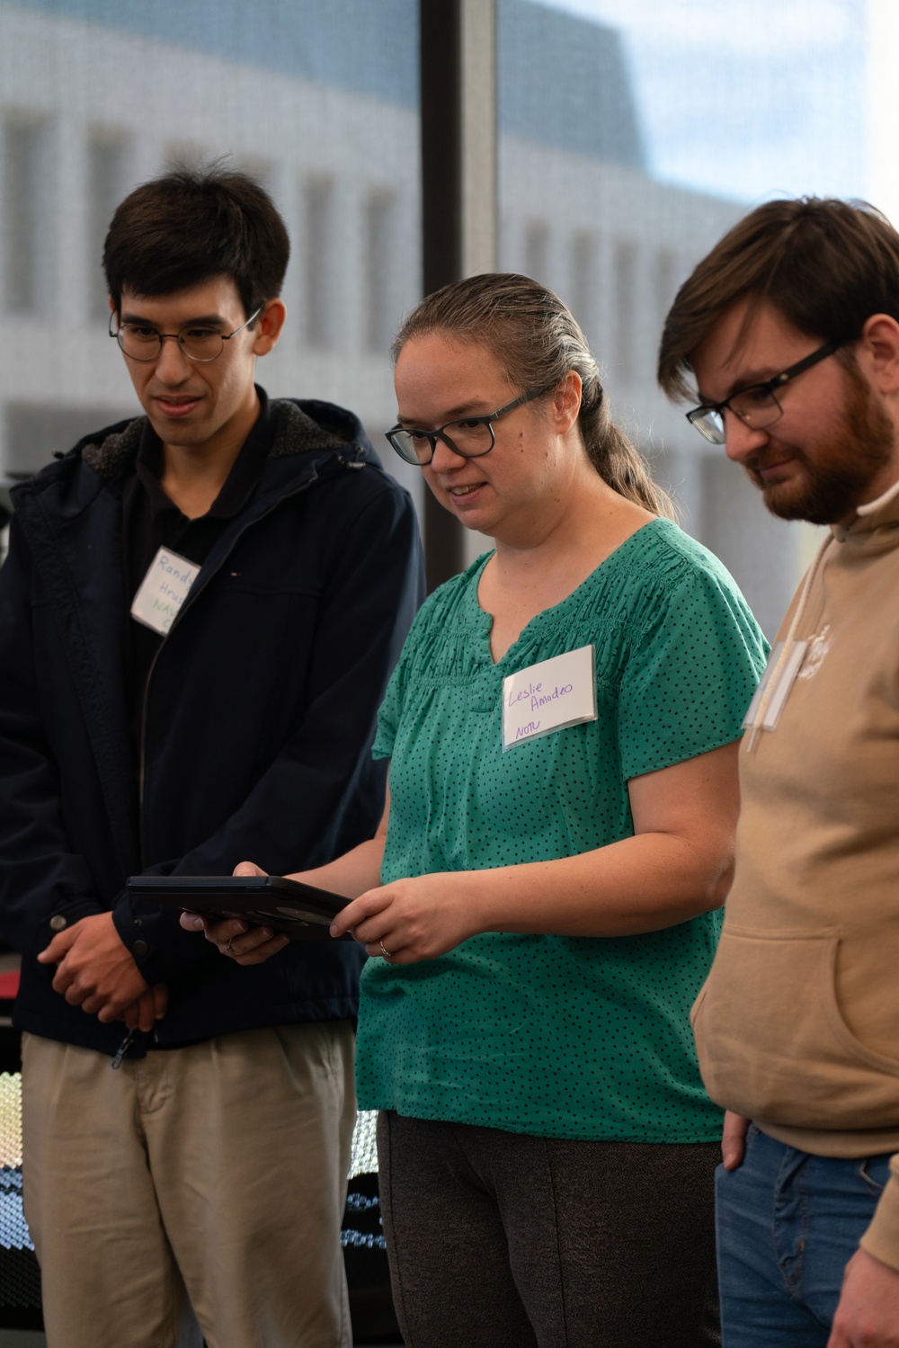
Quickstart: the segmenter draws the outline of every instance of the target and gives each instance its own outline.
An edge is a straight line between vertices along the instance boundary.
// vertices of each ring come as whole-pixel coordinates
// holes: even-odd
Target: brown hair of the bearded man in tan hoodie
[[[852,342],[871,314],[899,321],[899,233],[867,202],[768,201],[720,240],[681,286],[662,332],[659,383],[689,398],[695,352],[728,309],[768,301],[799,332]]]

